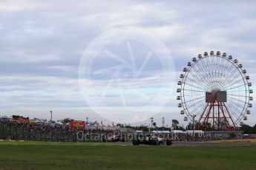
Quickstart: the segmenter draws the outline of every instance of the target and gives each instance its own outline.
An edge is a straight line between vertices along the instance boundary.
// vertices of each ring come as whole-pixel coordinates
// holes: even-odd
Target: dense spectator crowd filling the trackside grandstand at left
[[[72,129],[70,123],[17,121],[0,118],[0,139],[53,142],[105,141],[116,129]]]

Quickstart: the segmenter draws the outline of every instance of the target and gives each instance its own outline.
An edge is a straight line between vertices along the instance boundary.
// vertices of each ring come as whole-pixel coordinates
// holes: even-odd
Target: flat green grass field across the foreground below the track
[[[256,169],[255,146],[0,142],[0,169]]]

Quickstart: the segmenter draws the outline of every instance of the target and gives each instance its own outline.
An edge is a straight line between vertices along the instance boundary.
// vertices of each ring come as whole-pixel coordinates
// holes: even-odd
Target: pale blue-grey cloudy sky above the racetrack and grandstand
[[[183,122],[174,82],[197,54],[233,55],[254,84],[255,5],[1,0],[0,115]]]

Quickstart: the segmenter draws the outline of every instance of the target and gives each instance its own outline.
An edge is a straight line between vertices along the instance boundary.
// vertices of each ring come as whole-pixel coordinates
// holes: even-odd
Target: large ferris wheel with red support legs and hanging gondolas
[[[184,120],[196,118],[214,129],[233,130],[251,113],[253,91],[249,75],[226,52],[204,52],[192,58],[180,78],[177,100]]]

